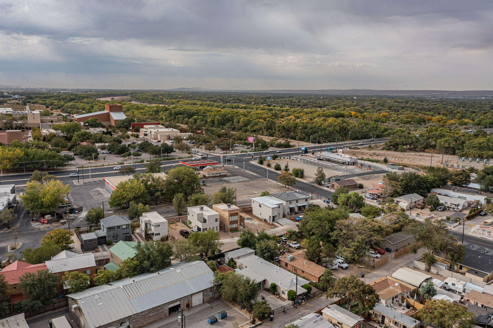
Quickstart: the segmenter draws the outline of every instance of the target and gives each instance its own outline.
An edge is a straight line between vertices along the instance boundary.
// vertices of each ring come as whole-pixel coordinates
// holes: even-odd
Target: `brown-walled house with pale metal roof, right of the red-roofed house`
[[[51,257],[51,260],[46,261],[46,268],[58,275],[59,292],[66,294],[65,290],[69,289],[68,286],[60,284],[62,277],[66,271],[79,272],[87,274],[91,279],[91,284],[94,283],[93,277],[96,274],[96,260],[94,259],[94,253],[77,254],[69,251],[62,251],[61,253]]]

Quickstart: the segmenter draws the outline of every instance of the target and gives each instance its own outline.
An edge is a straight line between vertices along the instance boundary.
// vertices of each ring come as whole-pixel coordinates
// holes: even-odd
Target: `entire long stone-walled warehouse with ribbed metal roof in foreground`
[[[180,262],[67,295],[70,318],[80,328],[141,328],[218,298],[213,279],[205,262]]]

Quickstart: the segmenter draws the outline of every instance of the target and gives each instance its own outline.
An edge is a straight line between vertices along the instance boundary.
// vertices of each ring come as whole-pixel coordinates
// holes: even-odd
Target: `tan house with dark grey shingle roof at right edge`
[[[446,259],[445,254],[435,254],[438,262],[447,264],[449,270],[464,274],[467,278],[489,282],[493,279],[493,252],[473,244],[465,245],[466,255],[457,264]]]

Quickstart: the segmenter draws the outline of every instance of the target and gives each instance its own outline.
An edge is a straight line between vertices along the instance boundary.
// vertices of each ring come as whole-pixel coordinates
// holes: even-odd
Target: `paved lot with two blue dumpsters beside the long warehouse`
[[[220,320],[217,316],[217,312],[226,311],[228,316],[222,320]],[[211,315],[217,318],[217,322],[213,324],[213,327],[233,327],[233,324],[236,322],[240,326],[243,323],[247,323],[249,317],[232,307],[227,302],[222,299],[216,299],[206,304],[201,304],[197,307],[191,308],[188,311],[184,311],[183,315],[185,316],[185,325],[187,328],[202,328],[208,327],[209,323],[207,322],[207,318]],[[165,320],[161,320],[160,322],[150,325],[150,328],[176,328],[178,323],[178,316],[173,315],[170,318]]]

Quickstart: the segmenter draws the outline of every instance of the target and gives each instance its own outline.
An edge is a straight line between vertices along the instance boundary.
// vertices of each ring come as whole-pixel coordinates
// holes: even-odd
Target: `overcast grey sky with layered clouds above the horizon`
[[[0,0],[0,84],[493,90],[491,0]]]

